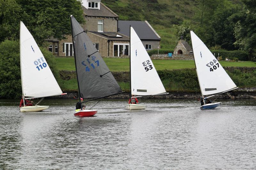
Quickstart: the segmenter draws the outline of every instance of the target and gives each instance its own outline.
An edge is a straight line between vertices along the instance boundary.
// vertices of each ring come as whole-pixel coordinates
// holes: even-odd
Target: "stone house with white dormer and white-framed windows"
[[[84,28],[84,30],[87,30],[87,35],[89,36],[95,47],[100,51],[101,56],[120,57],[124,55],[130,55],[130,38],[129,35],[118,32],[119,22],[118,15],[116,13],[114,13],[106,5],[101,3],[100,0],[82,0],[82,9],[84,11],[85,17],[85,24],[82,27]],[[144,23],[146,23],[146,21]],[[146,25],[147,27],[150,26],[149,24]],[[160,48],[160,37],[158,39],[158,44]],[[47,39],[46,41],[48,41],[48,49],[53,53],[53,55],[74,55],[71,35],[68,35],[67,39],[61,41],[52,38]],[[145,41],[145,48],[146,43],[147,42]],[[150,47],[152,49],[153,47],[156,47],[155,44],[154,46],[152,44],[153,43],[149,42],[147,47]]]

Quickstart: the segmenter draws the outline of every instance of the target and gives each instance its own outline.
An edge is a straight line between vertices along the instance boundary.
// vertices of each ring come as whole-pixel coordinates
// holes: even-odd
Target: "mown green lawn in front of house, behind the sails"
[[[75,70],[75,61],[73,57],[56,57],[58,70]],[[129,71],[128,58],[104,58],[110,71]],[[194,61],[187,60],[152,60],[156,70],[174,70],[195,68]],[[256,62],[241,61],[230,62],[220,61],[224,67],[256,67]]]

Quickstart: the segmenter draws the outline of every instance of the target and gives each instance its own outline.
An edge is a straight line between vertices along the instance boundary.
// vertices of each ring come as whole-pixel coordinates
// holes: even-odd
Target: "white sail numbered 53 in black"
[[[131,93],[153,95],[166,93],[156,69],[140,38],[131,27]]]

